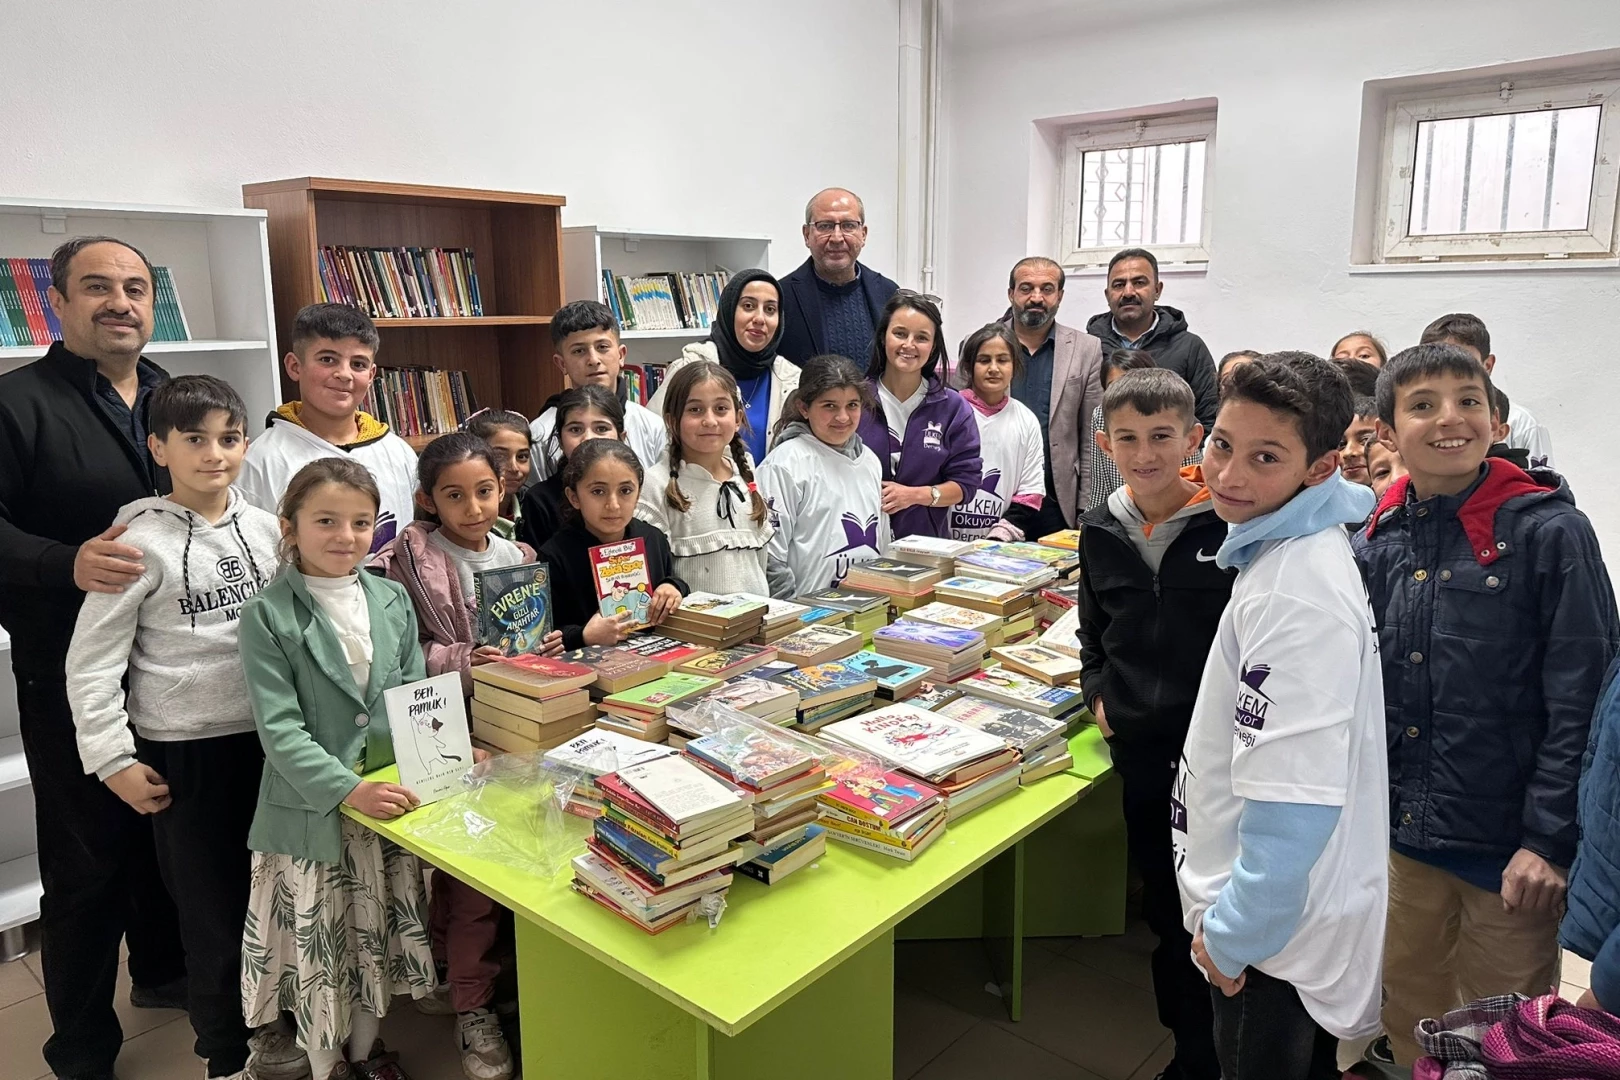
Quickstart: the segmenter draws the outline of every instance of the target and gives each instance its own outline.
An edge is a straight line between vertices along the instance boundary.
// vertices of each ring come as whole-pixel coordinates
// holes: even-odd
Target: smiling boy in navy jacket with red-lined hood
[[[1486,364],[1419,345],[1379,377],[1408,476],[1356,536],[1388,701],[1383,1025],[1558,984],[1576,784],[1620,615],[1591,523],[1549,470],[1487,458]]]

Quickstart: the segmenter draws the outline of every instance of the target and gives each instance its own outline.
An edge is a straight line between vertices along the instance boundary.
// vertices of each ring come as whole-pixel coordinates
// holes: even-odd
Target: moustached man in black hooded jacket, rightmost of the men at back
[[[1140,348],[1153,355],[1155,364],[1186,379],[1197,402],[1199,423],[1209,431],[1220,405],[1215,358],[1204,338],[1187,330],[1187,317],[1179,309],[1158,303],[1163,293],[1153,253],[1126,248],[1108,262],[1103,287],[1108,311],[1092,316],[1085,332],[1103,343],[1103,356],[1116,348]]]

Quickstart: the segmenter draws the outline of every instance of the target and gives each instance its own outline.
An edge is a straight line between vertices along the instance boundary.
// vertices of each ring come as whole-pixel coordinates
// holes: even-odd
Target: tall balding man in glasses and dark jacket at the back
[[[810,257],[782,279],[778,351],[799,366],[836,353],[865,369],[878,313],[899,285],[859,261],[867,246],[860,196],[844,188],[818,191],[805,206],[804,236]]]

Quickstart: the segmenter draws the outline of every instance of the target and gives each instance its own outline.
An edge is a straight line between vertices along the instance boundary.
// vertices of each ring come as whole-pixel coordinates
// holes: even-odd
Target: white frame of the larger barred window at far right
[[[1430,120],[1599,105],[1597,152],[1586,228],[1547,232],[1482,232],[1409,235],[1418,185],[1418,131]],[[1617,186],[1620,186],[1620,78],[1487,79],[1443,91],[1390,99],[1379,164],[1377,261],[1507,262],[1523,259],[1602,259],[1615,256]]]

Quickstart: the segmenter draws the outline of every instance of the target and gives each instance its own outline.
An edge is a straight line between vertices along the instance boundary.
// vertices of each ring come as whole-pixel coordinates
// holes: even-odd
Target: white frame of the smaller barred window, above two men
[[[1140,241],[1150,248],[1162,266],[1207,264],[1210,261],[1210,209],[1215,194],[1215,110],[1191,113],[1134,117],[1103,123],[1081,123],[1063,131],[1063,167],[1058,170],[1058,261],[1072,270],[1108,266],[1108,261],[1131,244],[1118,243],[1106,248],[1082,248],[1081,198],[1082,164],[1089,151],[1118,151],[1139,146],[1163,146],[1166,142],[1204,141],[1204,193],[1200,199],[1200,228],[1197,243],[1158,244]]]

